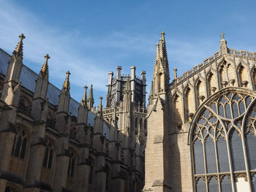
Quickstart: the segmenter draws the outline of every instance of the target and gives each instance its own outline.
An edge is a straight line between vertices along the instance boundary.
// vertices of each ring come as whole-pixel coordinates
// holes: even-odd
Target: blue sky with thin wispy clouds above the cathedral
[[[61,88],[71,72],[71,96],[80,101],[84,85],[94,85],[95,105],[105,96],[108,72],[146,70],[148,88],[155,44],[165,31],[170,78],[200,64],[219,49],[256,51],[256,1],[15,1],[0,0],[0,47],[12,53],[23,33],[23,63],[39,72],[50,55],[50,82]]]

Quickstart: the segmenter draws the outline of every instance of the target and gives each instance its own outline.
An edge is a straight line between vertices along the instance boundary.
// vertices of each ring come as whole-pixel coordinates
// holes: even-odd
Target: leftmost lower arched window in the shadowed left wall
[[[16,158],[25,158],[26,155],[26,147],[27,147],[27,135],[26,131],[23,128],[18,126],[18,133],[15,136],[13,145],[12,145],[12,155]]]

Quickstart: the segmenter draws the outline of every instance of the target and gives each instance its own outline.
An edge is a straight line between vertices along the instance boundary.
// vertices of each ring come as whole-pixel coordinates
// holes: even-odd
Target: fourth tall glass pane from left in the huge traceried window
[[[230,134],[230,150],[234,171],[245,170],[244,152],[241,138],[238,136],[238,132],[236,130],[233,130]]]

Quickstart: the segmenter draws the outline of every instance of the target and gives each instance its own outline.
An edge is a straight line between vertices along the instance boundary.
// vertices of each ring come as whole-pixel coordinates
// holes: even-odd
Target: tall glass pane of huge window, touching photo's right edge
[[[249,167],[250,169],[256,169],[256,137],[249,131],[245,138]]]

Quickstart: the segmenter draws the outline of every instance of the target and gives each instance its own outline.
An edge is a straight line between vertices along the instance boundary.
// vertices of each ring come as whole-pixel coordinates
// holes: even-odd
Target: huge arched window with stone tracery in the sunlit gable
[[[195,191],[255,190],[255,98],[226,88],[198,109],[189,133]]]

